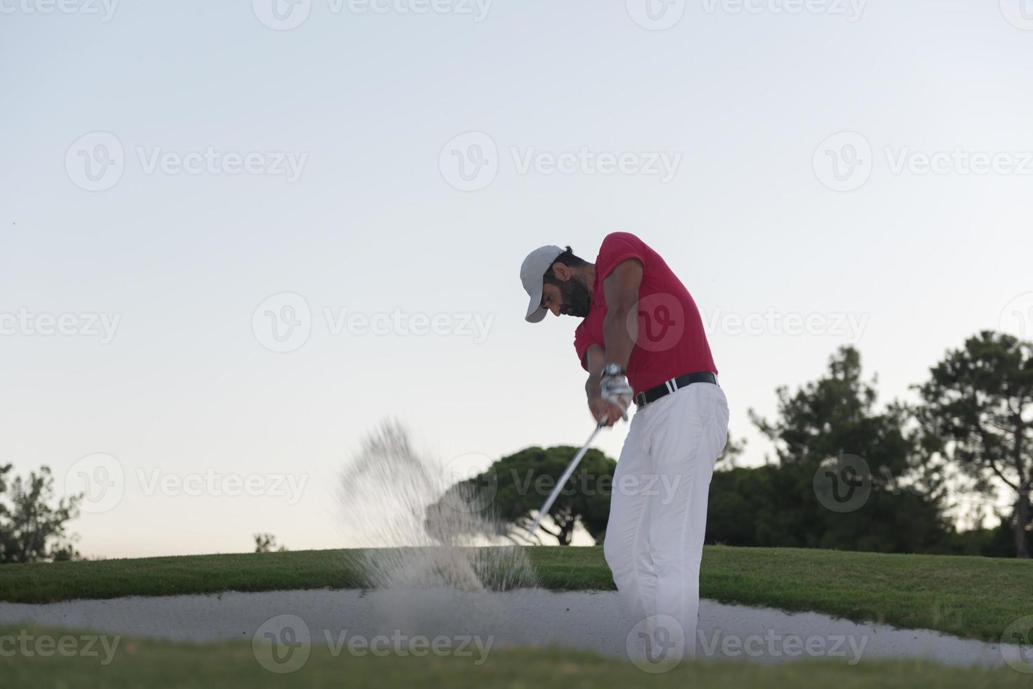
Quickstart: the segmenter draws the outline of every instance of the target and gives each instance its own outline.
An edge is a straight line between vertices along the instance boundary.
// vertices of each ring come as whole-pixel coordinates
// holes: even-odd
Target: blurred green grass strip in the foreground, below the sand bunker
[[[67,631],[26,630],[35,637],[55,639]],[[17,635],[15,628],[0,628]],[[109,644],[115,641],[109,637]],[[5,645],[11,648],[8,643]],[[30,645],[31,648],[31,645]],[[81,647],[82,648],[82,647]],[[780,666],[747,662],[683,662],[659,675],[646,674],[629,662],[587,652],[557,649],[493,650],[481,664],[477,657],[386,656],[357,657],[345,650],[334,656],[314,646],[305,664],[294,672],[277,675],[256,660],[251,644],[170,644],[120,638],[109,662],[100,657],[50,657],[15,653],[2,662],[2,686],[32,689],[66,687],[492,687],[575,689],[577,687],[836,687],[876,689],[938,687],[1029,687],[1029,676],[1010,668],[945,667],[925,662],[862,661],[856,665],[834,661],[799,661]]]

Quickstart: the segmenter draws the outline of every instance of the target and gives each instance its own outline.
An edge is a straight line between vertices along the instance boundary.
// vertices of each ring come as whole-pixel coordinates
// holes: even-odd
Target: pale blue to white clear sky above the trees
[[[665,258],[746,465],[839,346],[888,402],[1033,337],[1028,0],[0,14],[0,465],[87,492],[88,557],[347,545],[384,419],[443,470],[581,445],[577,321],[523,319],[544,244]]]

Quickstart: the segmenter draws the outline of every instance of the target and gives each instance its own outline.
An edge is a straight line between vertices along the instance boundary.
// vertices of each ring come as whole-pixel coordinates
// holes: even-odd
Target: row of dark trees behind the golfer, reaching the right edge
[[[911,402],[879,405],[876,382],[859,352],[841,347],[817,380],[776,390],[773,419],[750,410],[775,453],[739,467],[743,443],[729,442],[711,482],[707,542],[1028,558],[1033,343],[979,333],[930,368]],[[462,488],[489,492],[509,527],[501,535],[524,542],[549,493],[535,481],[557,480],[576,449],[522,449]],[[581,525],[601,542],[615,467],[588,452],[550,510],[546,537],[569,544]]]

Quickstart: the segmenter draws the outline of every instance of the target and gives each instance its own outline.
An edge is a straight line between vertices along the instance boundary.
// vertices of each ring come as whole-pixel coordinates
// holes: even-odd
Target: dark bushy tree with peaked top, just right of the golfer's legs
[[[729,543],[914,553],[950,531],[942,514],[943,481],[918,451],[909,410],[877,410],[874,379],[862,377],[860,354],[843,347],[827,373],[794,394],[780,387],[778,416],[757,428],[778,463],[715,473],[708,538]],[[864,500],[834,510],[819,499],[819,478],[839,478],[851,457]],[[847,477],[844,475],[844,477]]]

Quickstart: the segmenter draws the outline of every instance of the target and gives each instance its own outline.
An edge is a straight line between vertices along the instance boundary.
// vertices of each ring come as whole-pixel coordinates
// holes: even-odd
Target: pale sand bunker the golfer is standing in
[[[34,623],[173,640],[250,640],[296,616],[314,643],[354,635],[428,638],[476,635],[506,645],[558,645],[626,657],[633,621],[614,592],[525,589],[459,591],[273,591],[217,595],[73,600],[30,605],[0,602],[0,624]],[[293,622],[298,626],[298,621]],[[855,663],[873,658],[925,658],[950,664],[1002,665],[1002,651],[928,630],[856,624],[817,613],[700,605],[699,658],[784,662],[829,657]],[[1008,653],[1018,651],[1005,647]]]

